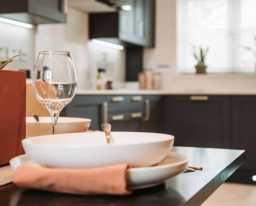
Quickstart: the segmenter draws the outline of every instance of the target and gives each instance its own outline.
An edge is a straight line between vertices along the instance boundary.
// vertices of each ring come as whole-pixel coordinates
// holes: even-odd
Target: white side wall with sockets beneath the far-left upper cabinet
[[[10,70],[33,70],[34,66],[34,29],[0,22],[0,47],[8,49],[21,49],[27,52],[27,60],[15,61],[5,66]],[[18,55],[19,53],[16,53]],[[14,55],[13,55],[14,56]],[[4,59],[1,57],[1,60]]]

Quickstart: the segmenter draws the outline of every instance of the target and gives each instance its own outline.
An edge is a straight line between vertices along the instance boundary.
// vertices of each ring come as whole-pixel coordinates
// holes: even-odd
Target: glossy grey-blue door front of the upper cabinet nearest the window
[[[119,39],[154,47],[155,0],[129,0],[131,10],[119,11]]]

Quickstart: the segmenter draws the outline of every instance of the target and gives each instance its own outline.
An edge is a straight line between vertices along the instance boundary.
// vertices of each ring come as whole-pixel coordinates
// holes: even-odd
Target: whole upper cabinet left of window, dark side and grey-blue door
[[[108,0],[100,0],[103,3]],[[154,47],[155,0],[127,0],[118,12],[90,13],[89,38],[117,44]]]

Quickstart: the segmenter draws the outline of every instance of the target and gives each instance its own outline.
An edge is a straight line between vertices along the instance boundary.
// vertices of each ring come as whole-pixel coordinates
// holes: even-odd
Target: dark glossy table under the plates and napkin
[[[200,205],[244,162],[244,150],[174,147],[203,170],[185,172],[165,184],[134,191],[130,196],[85,196],[0,187],[0,205]],[[146,174],[145,174],[146,175]]]

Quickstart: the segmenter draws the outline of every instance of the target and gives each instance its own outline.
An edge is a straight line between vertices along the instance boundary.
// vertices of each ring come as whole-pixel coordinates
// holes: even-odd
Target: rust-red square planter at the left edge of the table
[[[0,70],[0,165],[24,153],[26,135],[26,73]]]

